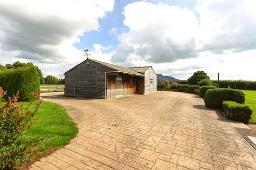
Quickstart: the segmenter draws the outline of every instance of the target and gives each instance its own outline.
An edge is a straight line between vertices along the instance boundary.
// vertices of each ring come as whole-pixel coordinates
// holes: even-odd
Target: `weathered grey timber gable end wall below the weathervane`
[[[65,74],[65,95],[105,98],[105,72],[113,69],[90,60],[89,65],[86,62]]]

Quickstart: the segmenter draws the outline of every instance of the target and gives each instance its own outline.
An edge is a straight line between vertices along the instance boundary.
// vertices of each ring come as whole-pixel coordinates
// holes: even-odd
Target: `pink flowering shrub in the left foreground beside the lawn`
[[[7,102],[3,102],[5,95],[6,91],[0,87],[0,169],[11,169],[36,153],[34,146],[38,138],[28,139],[25,134],[35,122],[31,118],[43,100],[39,100],[40,94],[32,94],[33,99],[28,104],[20,104],[18,91],[13,97],[8,97]]]

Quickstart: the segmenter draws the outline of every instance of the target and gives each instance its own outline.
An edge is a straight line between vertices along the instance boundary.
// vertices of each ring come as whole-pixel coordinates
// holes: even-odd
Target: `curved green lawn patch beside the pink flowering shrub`
[[[36,119],[36,122],[26,136],[35,138],[39,135],[39,138],[43,138],[38,142],[39,152],[58,149],[68,144],[78,132],[65,109],[55,103],[44,101],[33,119]]]

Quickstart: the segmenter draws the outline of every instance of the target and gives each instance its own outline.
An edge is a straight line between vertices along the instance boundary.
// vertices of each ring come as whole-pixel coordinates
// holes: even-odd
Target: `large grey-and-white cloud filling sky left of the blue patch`
[[[76,63],[78,36],[98,30],[98,19],[113,8],[114,0],[1,1],[1,50],[40,63]]]

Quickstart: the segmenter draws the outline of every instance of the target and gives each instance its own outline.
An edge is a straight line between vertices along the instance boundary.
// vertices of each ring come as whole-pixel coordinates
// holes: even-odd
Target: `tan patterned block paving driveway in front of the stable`
[[[31,169],[256,169],[238,135],[193,94],[43,98],[65,107],[79,133]]]

